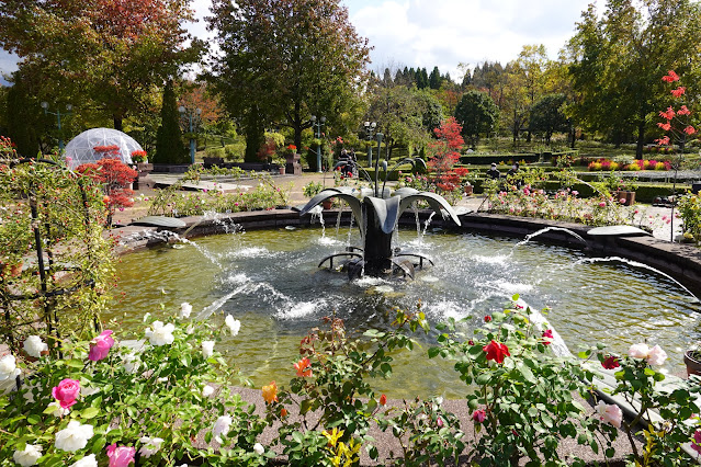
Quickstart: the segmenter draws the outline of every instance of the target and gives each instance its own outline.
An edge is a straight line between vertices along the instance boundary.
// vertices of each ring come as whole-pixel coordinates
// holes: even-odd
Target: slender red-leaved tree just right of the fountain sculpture
[[[443,191],[452,191],[456,179],[460,179],[453,166],[460,160],[460,149],[465,144],[460,135],[462,129],[455,117],[449,117],[433,130],[438,139],[430,146],[433,157],[429,159],[428,167],[433,172],[436,185]]]

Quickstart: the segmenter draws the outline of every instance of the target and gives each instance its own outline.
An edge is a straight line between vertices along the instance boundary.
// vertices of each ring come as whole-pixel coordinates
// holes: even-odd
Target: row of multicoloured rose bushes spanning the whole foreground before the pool
[[[576,465],[583,459],[557,451],[572,438],[610,459],[619,429],[632,440],[643,435],[643,448],[632,444],[634,465],[688,465],[680,444],[701,452],[697,429],[699,387],[681,384],[659,390],[665,379],[655,369],[666,358],[659,346],[631,346],[627,356],[602,345],[577,357],[552,351],[553,330],[535,319],[518,296],[502,312],[484,318],[471,334],[453,320],[439,326],[438,346],[429,357],[455,361],[467,385],[466,403],[476,435],[442,407],[441,398],[389,407],[370,379],[389,378],[394,355],[416,351],[412,335],[430,327],[421,312],[396,310],[394,329],[365,331],[354,338],[342,320],[327,318],[301,342],[301,355],[291,360],[287,386],[263,386],[265,418],[241,400],[233,384],[244,378],[228,368],[216,351],[223,333],[237,335],[241,323],[227,316],[224,326],[190,320],[192,307],[182,304],[168,318],[145,318],[144,340],[120,345],[111,330],[89,342],[63,342],[60,358],[45,355],[38,335],[26,339],[24,351],[38,358],[18,363],[0,360],[0,379],[29,377],[19,391],[0,398],[0,458],[2,465],[110,466],[268,465],[282,452],[290,465],[358,465],[361,449],[378,458],[369,430],[376,424],[400,447],[385,465]],[[165,315],[163,315],[165,316]],[[212,320],[214,321],[214,320]],[[613,395],[641,403],[638,414],[625,420],[618,406],[599,401],[586,411],[575,395],[592,395],[597,366],[615,371]],[[31,373],[27,373],[31,371]],[[656,410],[662,422],[651,417]],[[645,422],[646,429],[636,428]],[[276,435],[263,446],[267,426]],[[12,460],[10,460],[12,459]],[[632,464],[633,465],[633,464]]]

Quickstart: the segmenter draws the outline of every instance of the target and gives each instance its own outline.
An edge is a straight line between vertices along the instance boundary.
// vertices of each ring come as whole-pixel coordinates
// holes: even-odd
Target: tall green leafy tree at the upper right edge
[[[634,129],[642,157],[649,116],[666,96],[659,77],[698,67],[699,42],[698,2],[609,0],[602,15],[589,7],[568,43],[574,116],[591,130]]]

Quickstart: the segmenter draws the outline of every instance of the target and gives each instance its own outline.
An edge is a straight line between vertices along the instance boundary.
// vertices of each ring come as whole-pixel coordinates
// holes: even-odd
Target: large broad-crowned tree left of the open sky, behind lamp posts
[[[210,79],[244,123],[247,146],[274,124],[292,128],[301,147],[309,115],[332,126],[355,106],[370,50],[338,0],[214,0],[212,12],[222,54]]]

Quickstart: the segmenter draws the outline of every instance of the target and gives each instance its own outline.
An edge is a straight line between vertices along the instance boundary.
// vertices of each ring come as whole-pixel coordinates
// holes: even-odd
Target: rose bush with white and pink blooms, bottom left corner
[[[0,398],[2,465],[264,465],[272,454],[256,444],[264,421],[231,391],[244,380],[215,350],[240,323],[191,321],[191,309],[183,304],[169,323],[147,317],[145,340],[133,346],[105,330],[61,342],[57,358],[44,355],[39,337],[27,339],[37,361],[23,365],[19,391]],[[19,372],[13,355],[0,360],[0,379]],[[218,449],[207,447],[212,440]]]

